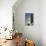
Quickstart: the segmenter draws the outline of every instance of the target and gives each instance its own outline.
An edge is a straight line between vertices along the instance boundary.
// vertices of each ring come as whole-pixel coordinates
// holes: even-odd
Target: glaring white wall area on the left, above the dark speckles
[[[0,27],[12,28],[12,6],[16,0],[0,0]]]

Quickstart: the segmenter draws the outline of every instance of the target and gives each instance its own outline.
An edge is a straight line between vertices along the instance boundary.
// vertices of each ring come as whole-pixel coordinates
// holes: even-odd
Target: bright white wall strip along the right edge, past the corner
[[[46,0],[41,1],[41,40],[42,46],[46,46]]]

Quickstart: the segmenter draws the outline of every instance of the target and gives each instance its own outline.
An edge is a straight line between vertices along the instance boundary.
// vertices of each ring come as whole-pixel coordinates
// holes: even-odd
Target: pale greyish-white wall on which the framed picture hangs
[[[15,6],[15,5],[14,5]],[[15,27],[18,32],[22,32],[25,38],[34,40],[36,46],[41,46],[41,1],[24,0],[16,9],[14,9]],[[25,13],[34,13],[34,25],[25,26]]]

